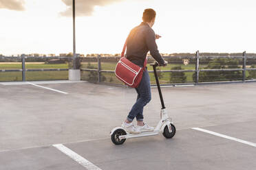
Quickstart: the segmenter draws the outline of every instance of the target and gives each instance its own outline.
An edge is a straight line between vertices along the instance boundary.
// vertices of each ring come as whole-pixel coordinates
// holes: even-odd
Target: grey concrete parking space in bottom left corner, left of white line
[[[84,169],[54,147],[0,151],[0,165],[1,170]]]

